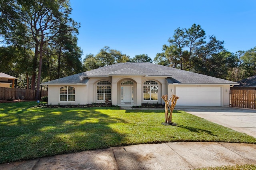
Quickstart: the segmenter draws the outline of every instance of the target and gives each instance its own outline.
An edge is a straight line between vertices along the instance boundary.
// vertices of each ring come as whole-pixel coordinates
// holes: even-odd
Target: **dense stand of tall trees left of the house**
[[[1,48],[6,48],[0,61],[10,56],[4,72],[26,77],[23,88],[36,87],[36,96],[41,77],[51,80],[82,71],[76,37],[80,25],[70,14],[69,0],[0,1]]]

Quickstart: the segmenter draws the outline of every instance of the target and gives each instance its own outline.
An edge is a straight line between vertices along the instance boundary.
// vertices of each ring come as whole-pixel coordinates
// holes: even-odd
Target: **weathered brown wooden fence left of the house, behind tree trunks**
[[[40,90],[40,98],[42,96],[48,96],[48,91]],[[35,100],[36,90],[0,87],[0,99],[6,100],[9,98],[14,100]]]

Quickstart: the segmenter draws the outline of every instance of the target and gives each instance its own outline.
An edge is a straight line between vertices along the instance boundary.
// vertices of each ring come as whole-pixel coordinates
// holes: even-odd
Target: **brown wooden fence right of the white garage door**
[[[256,109],[256,90],[255,88],[230,89],[231,107],[241,107]]]

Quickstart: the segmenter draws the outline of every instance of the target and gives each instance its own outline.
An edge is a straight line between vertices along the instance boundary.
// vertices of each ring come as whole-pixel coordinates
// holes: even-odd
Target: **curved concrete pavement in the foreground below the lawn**
[[[256,164],[256,145],[174,142],[112,147],[0,164],[1,170],[188,170]]]

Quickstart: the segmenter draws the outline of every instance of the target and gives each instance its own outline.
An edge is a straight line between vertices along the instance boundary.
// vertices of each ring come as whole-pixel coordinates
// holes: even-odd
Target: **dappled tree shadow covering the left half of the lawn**
[[[126,123],[99,108],[8,106],[1,114],[0,163],[121,145],[110,125]]]

